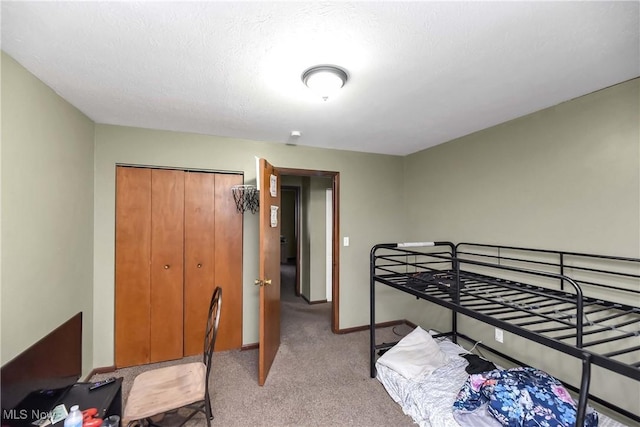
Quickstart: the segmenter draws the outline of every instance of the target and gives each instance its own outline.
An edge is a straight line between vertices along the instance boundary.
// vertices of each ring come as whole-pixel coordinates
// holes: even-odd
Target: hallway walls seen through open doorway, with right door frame
[[[281,277],[295,297],[331,304],[339,331],[339,172],[278,168],[281,176]],[[283,292],[288,291],[283,289]],[[286,296],[281,295],[281,299]]]

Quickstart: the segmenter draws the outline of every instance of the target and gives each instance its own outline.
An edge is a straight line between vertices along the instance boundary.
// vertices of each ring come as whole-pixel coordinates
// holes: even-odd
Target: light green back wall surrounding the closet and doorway
[[[403,159],[397,156],[324,150],[247,141],[96,125],[94,304],[101,307],[94,325],[94,365],[113,364],[115,165],[118,163],[244,172],[255,183],[254,156],[275,166],[340,172],[342,234],[351,246],[340,253],[340,328],[368,323],[369,250],[374,243],[395,240],[403,226],[396,207],[403,195]],[[380,194],[387,194],[384,198]],[[231,195],[229,196],[231,197]],[[258,222],[244,216],[243,343],[258,340]],[[403,312],[404,300],[389,304],[381,321]],[[387,316],[385,318],[385,316]]]

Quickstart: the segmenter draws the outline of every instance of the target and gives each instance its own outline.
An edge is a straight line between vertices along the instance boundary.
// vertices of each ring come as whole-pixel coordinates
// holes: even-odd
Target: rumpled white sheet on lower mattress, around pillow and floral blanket
[[[407,379],[394,370],[376,362],[377,379],[391,398],[398,403],[420,427],[459,427],[453,416],[453,402],[464,385],[468,373],[467,361],[459,354],[467,351],[449,340],[438,342],[447,355],[448,363],[431,374]],[[486,409],[464,415],[464,425],[501,427]],[[462,419],[461,419],[462,421]],[[599,427],[624,427],[623,424],[599,414]]]

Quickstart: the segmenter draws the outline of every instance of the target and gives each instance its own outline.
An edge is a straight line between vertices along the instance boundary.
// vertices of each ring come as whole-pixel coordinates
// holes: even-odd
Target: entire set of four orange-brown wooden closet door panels
[[[223,288],[216,350],[242,345],[241,175],[117,167],[116,366],[203,351],[209,300]]]

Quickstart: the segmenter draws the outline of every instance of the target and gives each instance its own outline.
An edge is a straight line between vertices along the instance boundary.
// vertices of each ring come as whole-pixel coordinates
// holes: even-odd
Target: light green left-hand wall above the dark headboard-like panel
[[[83,312],[93,364],[94,124],[2,53],[1,363]]]

